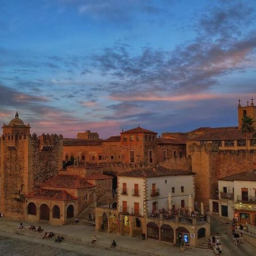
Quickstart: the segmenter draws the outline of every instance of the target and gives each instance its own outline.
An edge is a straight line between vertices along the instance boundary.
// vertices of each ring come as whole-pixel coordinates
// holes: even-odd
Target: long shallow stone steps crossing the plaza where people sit
[[[9,234],[18,234],[18,235],[22,235],[22,236],[26,236],[26,237],[34,237],[34,238],[38,238],[39,240],[42,240],[42,237],[44,236],[44,232],[45,230],[43,230],[42,233],[38,233],[38,232],[33,232],[28,230],[26,227],[23,229],[18,229],[15,225],[14,226],[0,226],[0,231],[1,232],[6,232]],[[47,230],[49,231],[49,230]],[[134,254],[134,255],[142,255],[142,256],[159,256],[159,254],[154,254],[154,253],[148,253],[146,251],[138,251],[138,250],[132,250],[126,247],[120,247],[117,246],[114,249],[112,247],[110,247],[109,243],[103,243],[100,241],[97,241],[96,243],[93,243],[92,245],[92,241],[88,241],[88,240],[82,240],[82,239],[78,239],[76,237],[69,237],[66,236],[65,234],[59,234],[59,233],[55,233],[55,236],[53,236],[52,238],[45,238],[46,241],[49,242],[53,242],[55,241],[57,236],[63,236],[64,240],[61,243],[71,243],[72,245],[76,244],[76,245],[80,245],[80,246],[90,246],[90,247],[97,247],[99,249],[106,249],[106,250],[111,250],[111,251],[119,251],[120,255],[122,255],[122,253],[129,253],[129,254]]]

